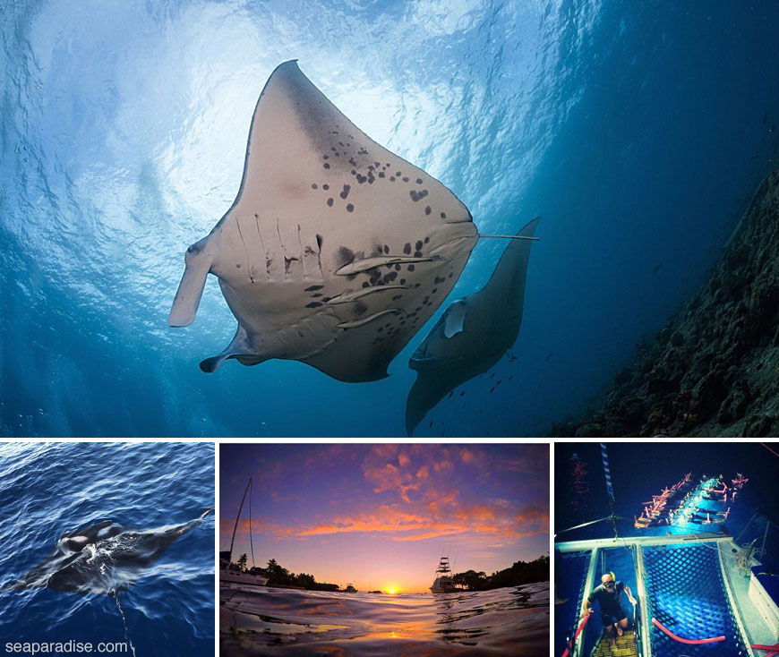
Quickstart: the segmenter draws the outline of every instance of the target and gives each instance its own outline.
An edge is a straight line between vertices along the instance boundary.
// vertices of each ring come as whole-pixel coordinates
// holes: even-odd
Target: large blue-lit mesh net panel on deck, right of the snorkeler
[[[714,544],[643,548],[649,622],[654,617],[676,636],[715,644],[681,644],[654,625],[649,628],[652,652],[663,657],[738,657],[747,655],[725,593]]]

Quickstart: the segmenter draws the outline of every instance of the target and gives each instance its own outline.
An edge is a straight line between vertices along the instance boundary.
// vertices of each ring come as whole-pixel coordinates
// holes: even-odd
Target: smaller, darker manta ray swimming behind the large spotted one
[[[522,323],[527,263],[540,218],[526,224],[498,260],[481,290],[449,305],[408,366],[416,380],[408,393],[410,436],[425,414],[454,388],[488,371],[517,340]]]

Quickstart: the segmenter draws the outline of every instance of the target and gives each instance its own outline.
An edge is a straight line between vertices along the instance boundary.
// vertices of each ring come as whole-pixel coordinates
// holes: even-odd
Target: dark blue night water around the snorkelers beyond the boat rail
[[[692,491],[706,474],[717,477],[723,474],[725,482],[741,473],[749,479],[739,491],[735,501],[703,500],[696,504],[701,508],[722,510],[731,508],[724,528],[734,537],[749,524],[756,513],[779,524],[779,501],[775,495],[776,468],[779,456],[772,454],[757,442],[609,442],[607,444],[609,469],[614,491],[614,514],[619,520],[616,530],[621,536],[647,536],[719,532],[723,525],[673,525],[637,529],[633,516],[639,516],[642,503],[659,495],[666,486],[679,482],[685,474],[692,473]],[[776,443],[766,443],[779,453]],[[591,538],[612,537],[611,522],[600,522],[575,529],[563,530],[610,516],[611,503],[606,494],[603,462],[598,443],[557,443],[555,446],[555,541],[579,541]],[[671,505],[675,506],[674,503]],[[762,530],[765,530],[765,521]],[[740,543],[748,542],[757,534],[752,526]],[[762,537],[762,533],[761,533]],[[766,550],[771,559],[779,556],[779,535],[772,528]]]

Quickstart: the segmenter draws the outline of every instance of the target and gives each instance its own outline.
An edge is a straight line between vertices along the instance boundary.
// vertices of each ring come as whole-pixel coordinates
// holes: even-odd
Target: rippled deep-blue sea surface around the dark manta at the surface
[[[52,554],[57,539],[102,520],[148,530],[214,506],[209,443],[0,444],[0,644],[129,642],[138,657],[211,657],[214,516],[177,538],[116,597],[49,588],[7,590]],[[124,545],[124,549],[132,545]],[[91,555],[97,567],[123,544]],[[137,550],[136,550],[137,551]],[[97,581],[104,581],[98,571]],[[105,572],[105,571],[102,571]],[[123,619],[124,612],[124,619]],[[126,623],[126,632],[125,632]]]

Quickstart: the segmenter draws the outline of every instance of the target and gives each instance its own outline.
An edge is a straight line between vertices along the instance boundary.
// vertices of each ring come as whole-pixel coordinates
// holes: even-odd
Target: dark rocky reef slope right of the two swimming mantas
[[[697,294],[552,436],[779,435],[779,170]]]

